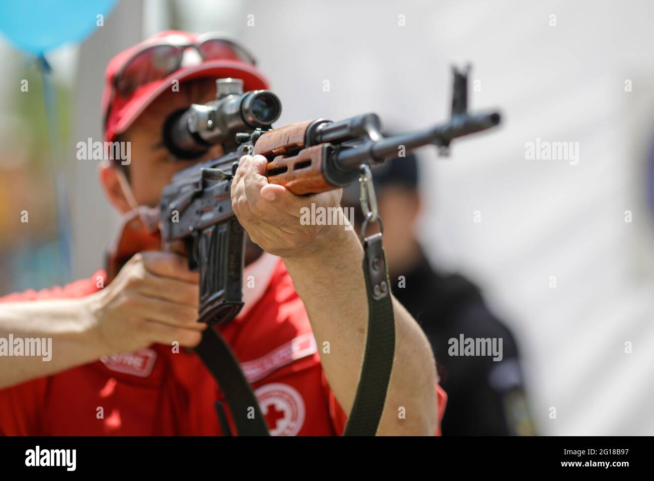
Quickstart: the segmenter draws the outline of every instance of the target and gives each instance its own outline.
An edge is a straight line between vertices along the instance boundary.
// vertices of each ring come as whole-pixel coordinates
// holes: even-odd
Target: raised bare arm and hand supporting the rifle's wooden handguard
[[[344,226],[301,225],[300,209],[339,208],[341,192],[294,196],[270,185],[266,158],[245,156],[232,183],[232,205],[250,238],[280,255],[300,294],[320,349],[322,368],[339,404],[349,414],[361,370],[368,325],[362,272],[363,249]],[[422,330],[393,299],[396,352],[379,435],[436,432],[436,366]],[[324,353],[323,342],[330,343]],[[400,419],[400,408],[405,418]]]

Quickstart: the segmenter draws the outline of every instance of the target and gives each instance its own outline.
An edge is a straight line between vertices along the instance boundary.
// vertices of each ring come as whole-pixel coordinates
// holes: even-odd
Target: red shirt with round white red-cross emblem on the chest
[[[86,296],[98,290],[96,276],[104,272],[0,302]],[[218,330],[252,383],[271,435],[343,433],[347,416],[322,372],[307,313],[281,260],[258,302]],[[440,425],[446,396],[438,384],[436,393]],[[0,435],[215,436],[221,433],[216,401],[224,395],[197,355],[153,344],[1,389]]]

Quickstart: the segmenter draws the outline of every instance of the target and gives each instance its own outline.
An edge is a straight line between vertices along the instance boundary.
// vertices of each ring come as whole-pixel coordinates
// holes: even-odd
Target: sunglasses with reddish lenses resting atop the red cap
[[[194,48],[203,60],[231,59],[256,65],[252,54],[243,46],[215,33],[200,35],[193,43],[179,35],[169,35],[153,39],[151,44],[133,53],[114,76],[115,92],[128,97],[143,84],[165,79],[182,67],[187,48]]]

